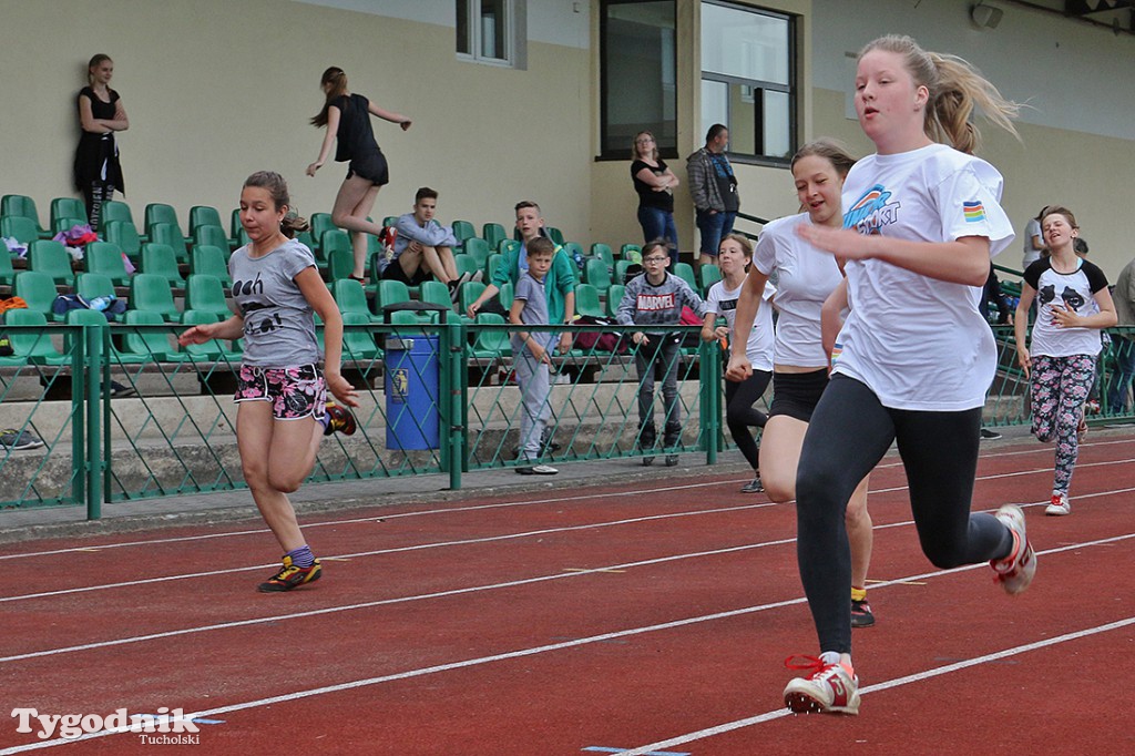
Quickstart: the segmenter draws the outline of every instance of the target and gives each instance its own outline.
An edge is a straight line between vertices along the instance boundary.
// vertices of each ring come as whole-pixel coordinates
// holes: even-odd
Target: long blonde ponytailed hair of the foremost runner
[[[973,154],[981,133],[972,120],[974,104],[985,117],[1017,138],[1012,118],[1020,112],[1020,104],[1006,100],[1001,92],[981,72],[957,56],[927,52],[909,36],[889,34],[881,36],[859,52],[863,58],[872,50],[894,52],[903,57],[906,69],[916,85],[930,92],[923,129],[935,142],[947,142],[955,149]]]

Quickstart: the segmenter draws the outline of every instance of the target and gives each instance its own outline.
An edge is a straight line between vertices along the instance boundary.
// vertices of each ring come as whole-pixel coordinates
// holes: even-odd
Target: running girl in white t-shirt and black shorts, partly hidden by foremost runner
[[[810,142],[792,158],[792,178],[797,199],[806,208],[766,225],[757,242],[754,264],[737,305],[737,333],[747,334],[754,318],[768,308],[763,301],[768,277],[777,279],[773,301],[780,311],[776,322],[776,351],[773,368],[773,403],[768,423],[760,437],[762,482],[774,502],[796,498],[797,465],[812,413],[827,386],[829,351],[821,334],[824,301],[843,283],[843,274],[831,254],[808,244],[796,229],[814,224],[839,228],[840,192],[855,158],[829,140]],[[753,375],[750,359],[737,348],[734,339],[726,378],[747,380]],[[848,501],[846,529],[851,548],[851,625],[875,624],[867,603],[867,570],[874,544],[871,513],[867,511],[867,476]]]

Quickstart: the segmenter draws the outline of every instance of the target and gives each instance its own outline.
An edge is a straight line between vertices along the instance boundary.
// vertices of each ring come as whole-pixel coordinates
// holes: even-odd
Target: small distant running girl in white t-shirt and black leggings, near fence
[[[739,336],[737,331],[737,303],[746,284],[746,272],[753,260],[753,242],[741,234],[730,234],[721,241],[717,247],[717,264],[721,267],[722,279],[709,287],[706,293],[706,308],[711,316],[706,317],[701,327],[701,338],[707,342],[730,339],[733,344],[745,346],[738,351],[746,355],[750,369],[743,380],[725,381],[725,425],[737,443],[745,460],[753,468],[753,481],[741,488],[742,494],[759,494],[764,490],[760,482],[760,450],[749,432],[749,428],[764,428],[768,418],[764,412],[753,406],[765,394],[768,381],[773,377],[773,310],[768,302],[776,288],[765,284],[759,296],[765,304],[759,311],[759,318],[749,319],[747,335]],[[724,326],[715,324],[716,318],[725,320]]]

